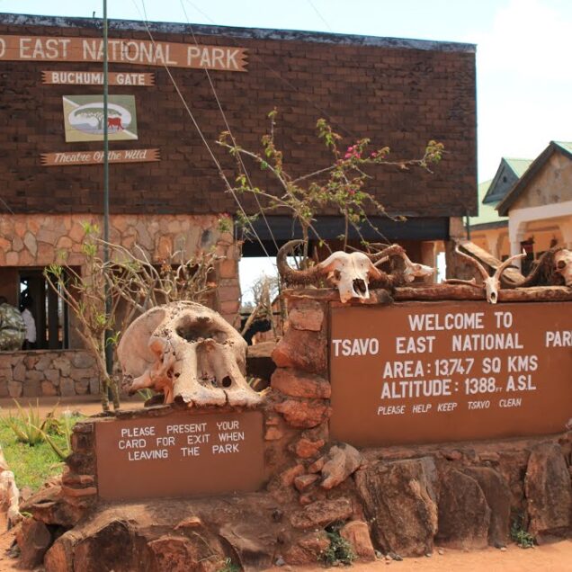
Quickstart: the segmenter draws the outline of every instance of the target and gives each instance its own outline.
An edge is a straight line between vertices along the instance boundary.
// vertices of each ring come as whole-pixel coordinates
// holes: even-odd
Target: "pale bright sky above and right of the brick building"
[[[96,17],[102,0],[0,0],[0,12]],[[108,0],[110,18],[477,44],[478,181],[501,157],[572,140],[570,0]],[[254,264],[254,261],[253,261]],[[241,268],[242,273],[242,268]]]

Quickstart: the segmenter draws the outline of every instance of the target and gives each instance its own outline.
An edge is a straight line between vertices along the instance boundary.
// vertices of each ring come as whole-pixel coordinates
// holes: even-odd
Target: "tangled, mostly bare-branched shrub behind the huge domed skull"
[[[106,347],[111,344],[116,348],[134,317],[149,308],[183,299],[206,301],[216,287],[211,273],[222,257],[214,250],[189,257],[182,247],[156,265],[138,245],[128,250],[105,243],[96,225],[84,223],[84,231],[85,274],[77,273],[66,264],[65,253],[59,253],[61,264],[50,264],[44,275],[76,315],[76,331],[99,370],[103,411],[109,412],[109,390],[113,408],[118,409],[120,389],[118,376],[107,371]],[[109,248],[108,262],[100,255],[103,246]],[[109,313],[105,311],[108,297],[112,302]]]

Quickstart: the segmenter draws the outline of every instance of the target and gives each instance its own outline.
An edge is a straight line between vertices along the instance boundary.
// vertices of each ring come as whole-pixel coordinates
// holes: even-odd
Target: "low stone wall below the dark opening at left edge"
[[[99,395],[94,357],[83,350],[0,352],[0,397]]]

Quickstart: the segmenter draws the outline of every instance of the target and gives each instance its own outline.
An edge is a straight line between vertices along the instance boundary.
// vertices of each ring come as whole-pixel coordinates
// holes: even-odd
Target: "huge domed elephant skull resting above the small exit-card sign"
[[[195,302],[148,310],[118,347],[130,394],[152,388],[165,404],[255,406],[260,396],[245,380],[246,342],[217,312]]]

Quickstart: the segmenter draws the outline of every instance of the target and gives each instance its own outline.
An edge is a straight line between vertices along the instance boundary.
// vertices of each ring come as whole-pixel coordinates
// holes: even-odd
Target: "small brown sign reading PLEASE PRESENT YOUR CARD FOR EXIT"
[[[105,499],[252,492],[263,485],[258,412],[114,419],[95,424]]]

